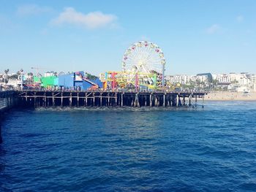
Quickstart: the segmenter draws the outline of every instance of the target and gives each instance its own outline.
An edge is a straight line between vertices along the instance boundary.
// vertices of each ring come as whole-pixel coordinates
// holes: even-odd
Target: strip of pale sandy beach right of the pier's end
[[[210,92],[205,96],[205,101],[256,101],[256,92]]]

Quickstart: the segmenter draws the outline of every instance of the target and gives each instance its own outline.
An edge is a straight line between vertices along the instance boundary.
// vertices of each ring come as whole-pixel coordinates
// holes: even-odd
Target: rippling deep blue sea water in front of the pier
[[[12,111],[0,191],[256,191],[256,102]]]

